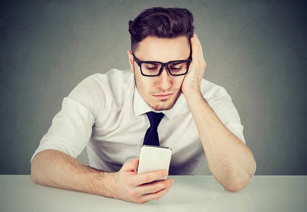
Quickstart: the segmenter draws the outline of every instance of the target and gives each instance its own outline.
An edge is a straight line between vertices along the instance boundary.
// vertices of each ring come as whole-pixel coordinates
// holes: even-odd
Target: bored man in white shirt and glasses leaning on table
[[[92,75],[63,99],[31,158],[33,182],[145,203],[165,195],[173,179],[150,182],[193,175],[206,155],[225,190],[244,189],[255,172],[253,154],[228,93],[203,79],[206,62],[193,15],[150,8],[129,21],[129,32],[132,73]],[[149,131],[159,135],[152,139],[157,145],[172,149],[169,173],[136,174]],[[89,167],[75,159],[85,147]]]

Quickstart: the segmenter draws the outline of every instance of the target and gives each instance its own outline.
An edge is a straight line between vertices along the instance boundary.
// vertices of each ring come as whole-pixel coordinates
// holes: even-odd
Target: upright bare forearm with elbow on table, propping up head
[[[226,190],[243,189],[255,169],[252,152],[223,125],[200,92],[192,92],[187,101],[213,176]]]

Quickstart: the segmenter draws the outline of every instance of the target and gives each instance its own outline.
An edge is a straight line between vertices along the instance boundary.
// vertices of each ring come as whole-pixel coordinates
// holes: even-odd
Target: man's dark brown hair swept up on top
[[[139,42],[147,36],[168,39],[186,36],[190,45],[193,20],[192,13],[184,8],[152,7],[143,10],[134,20],[129,20],[132,52],[138,51]]]

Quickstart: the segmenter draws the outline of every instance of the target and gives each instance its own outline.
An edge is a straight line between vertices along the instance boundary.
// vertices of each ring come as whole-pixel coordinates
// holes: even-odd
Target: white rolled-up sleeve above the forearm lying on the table
[[[95,116],[105,105],[101,83],[90,76],[80,82],[62,101],[61,110],[53,117],[51,127],[43,135],[32,160],[43,150],[59,150],[76,158],[92,135]]]

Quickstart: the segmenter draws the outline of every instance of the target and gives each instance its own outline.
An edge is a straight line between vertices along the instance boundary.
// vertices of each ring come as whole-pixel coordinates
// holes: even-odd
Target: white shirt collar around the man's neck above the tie
[[[168,117],[168,119],[172,119],[174,116],[176,116],[176,114],[180,109],[182,98],[183,98],[183,93],[181,93],[181,96],[178,98],[177,102],[170,110],[162,110],[159,112],[163,112]],[[136,116],[139,116],[149,111],[154,111],[140,96],[137,86],[135,86],[135,91],[134,91],[133,110]]]

